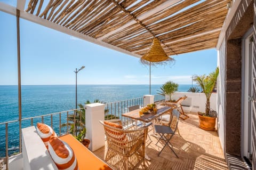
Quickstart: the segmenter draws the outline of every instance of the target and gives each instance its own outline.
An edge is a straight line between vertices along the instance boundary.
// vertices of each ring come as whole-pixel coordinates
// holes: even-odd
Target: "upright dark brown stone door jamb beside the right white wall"
[[[236,156],[241,153],[241,47],[241,38],[227,41],[226,153]]]

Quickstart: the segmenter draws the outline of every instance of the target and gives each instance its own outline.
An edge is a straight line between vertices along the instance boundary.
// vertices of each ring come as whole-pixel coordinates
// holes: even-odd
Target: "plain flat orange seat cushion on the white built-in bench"
[[[79,169],[90,170],[110,170],[111,168],[104,163],[101,159],[95,156],[89,149],[78,142],[72,135],[67,134],[59,137],[62,141],[65,141],[73,149]]]

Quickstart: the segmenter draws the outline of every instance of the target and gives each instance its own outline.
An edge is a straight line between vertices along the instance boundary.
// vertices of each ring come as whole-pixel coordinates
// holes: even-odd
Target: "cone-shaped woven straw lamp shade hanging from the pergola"
[[[166,55],[157,38],[153,39],[153,43],[150,46],[149,51],[140,58],[140,62],[146,65],[166,64],[173,61],[173,58]]]

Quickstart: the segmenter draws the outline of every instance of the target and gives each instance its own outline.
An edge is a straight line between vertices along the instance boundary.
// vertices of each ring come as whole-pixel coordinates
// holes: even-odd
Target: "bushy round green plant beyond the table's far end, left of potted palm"
[[[160,90],[157,90],[159,93],[157,94],[161,94],[163,96],[165,96],[165,99],[167,99],[166,97],[169,96],[170,97],[170,101],[173,102],[171,99],[171,95],[178,90],[179,85],[177,83],[174,83],[172,81],[166,82],[165,84],[163,84],[160,87]],[[175,101],[175,100],[174,100]]]

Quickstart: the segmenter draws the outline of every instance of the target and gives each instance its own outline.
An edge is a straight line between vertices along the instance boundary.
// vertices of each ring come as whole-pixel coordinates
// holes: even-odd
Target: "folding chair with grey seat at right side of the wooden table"
[[[154,126],[155,132],[160,135],[156,145],[158,144],[158,142],[160,140],[163,140],[165,142],[165,145],[161,149],[161,151],[159,151],[158,156],[161,154],[161,152],[164,150],[164,148],[166,146],[168,146],[172,150],[172,152],[175,154],[175,156],[177,158],[179,158],[178,155],[172,149],[172,144],[170,142],[170,140],[172,139],[172,136],[175,134],[176,130],[178,129],[179,117],[180,117],[180,112],[177,109],[173,109],[169,126],[164,126],[164,125],[155,125]],[[167,135],[169,135],[170,137],[167,138]]]

